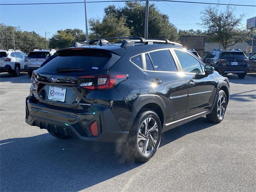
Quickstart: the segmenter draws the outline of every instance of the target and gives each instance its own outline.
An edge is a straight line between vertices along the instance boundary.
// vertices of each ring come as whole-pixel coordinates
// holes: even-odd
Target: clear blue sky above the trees
[[[46,2],[81,2],[83,0],[0,0],[4,3],[46,3]],[[97,0],[87,0],[97,1]],[[217,0],[186,0],[196,2],[218,2]],[[220,3],[256,5],[256,0],[220,0]],[[104,8],[110,4],[124,6],[121,2],[88,3],[87,17],[102,18]],[[169,16],[170,22],[178,29],[202,29],[200,12],[205,4],[190,4],[179,2],[154,2],[162,14]],[[220,6],[224,10],[226,6]],[[256,7],[236,7],[235,14],[245,13],[242,23],[246,19],[256,16]],[[56,34],[59,29],[79,28],[85,31],[84,4],[56,4],[56,5],[0,5],[0,23],[10,26],[20,26],[22,31],[35,31],[47,38]]]

